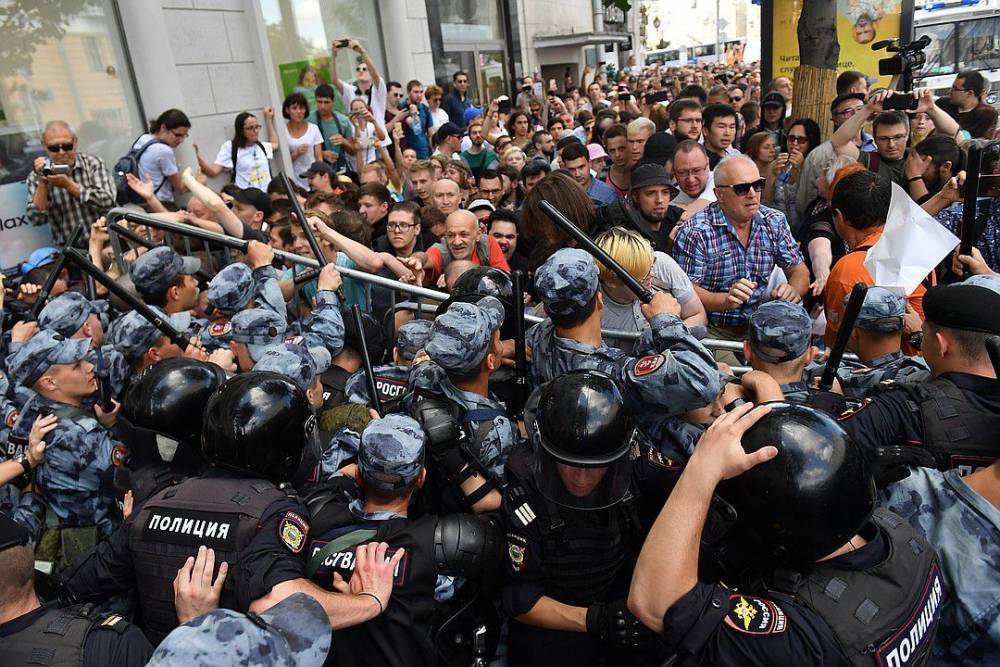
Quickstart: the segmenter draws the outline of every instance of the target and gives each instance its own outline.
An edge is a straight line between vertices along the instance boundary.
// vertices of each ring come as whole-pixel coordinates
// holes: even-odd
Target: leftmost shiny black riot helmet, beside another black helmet
[[[221,368],[196,359],[177,357],[150,366],[122,401],[118,428],[128,448],[127,466],[167,464],[192,471],[200,465],[205,403],[225,380]]]

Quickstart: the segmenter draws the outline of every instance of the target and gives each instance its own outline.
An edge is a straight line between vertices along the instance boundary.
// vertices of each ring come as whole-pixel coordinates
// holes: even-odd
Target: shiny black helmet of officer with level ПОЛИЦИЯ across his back
[[[279,373],[241,373],[205,406],[205,458],[244,475],[289,481],[315,437],[316,418],[305,392]]]

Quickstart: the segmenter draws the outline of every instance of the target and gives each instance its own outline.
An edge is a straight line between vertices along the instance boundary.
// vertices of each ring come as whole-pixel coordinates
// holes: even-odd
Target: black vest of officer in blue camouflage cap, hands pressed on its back
[[[387,555],[396,549],[406,550],[396,567],[392,601],[376,618],[333,633],[328,665],[437,665],[433,641],[435,629],[434,588],[437,561],[434,556],[434,533],[437,517],[359,521],[345,503],[329,503],[310,524],[308,558],[326,544],[355,529],[374,530],[367,542],[385,542]],[[333,573],[350,581],[354,572],[354,552],[348,547],[328,555],[313,574],[318,585],[333,590]]]

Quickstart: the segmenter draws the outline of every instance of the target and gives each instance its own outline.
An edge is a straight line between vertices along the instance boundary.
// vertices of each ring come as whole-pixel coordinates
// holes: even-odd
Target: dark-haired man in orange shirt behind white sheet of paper
[[[844,313],[844,297],[850,293],[854,284],[875,284],[865,268],[865,256],[868,248],[882,237],[891,198],[892,185],[889,179],[871,171],[848,174],[840,179],[833,190],[833,224],[851,251],[833,266],[823,290],[827,346],[832,346],[837,338]],[[906,298],[921,320],[924,318],[923,299],[926,291],[923,285],[918,285]],[[910,353],[912,352],[907,351],[907,354]]]

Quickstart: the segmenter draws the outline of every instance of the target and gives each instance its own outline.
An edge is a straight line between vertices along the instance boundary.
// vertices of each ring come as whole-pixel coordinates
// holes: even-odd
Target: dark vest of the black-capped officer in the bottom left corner
[[[120,617],[113,619],[117,620],[109,622],[107,627],[119,631],[128,627]],[[5,665],[79,667],[83,664],[87,636],[104,622],[90,604],[62,609],[53,606],[21,632],[0,637],[0,656]]]

